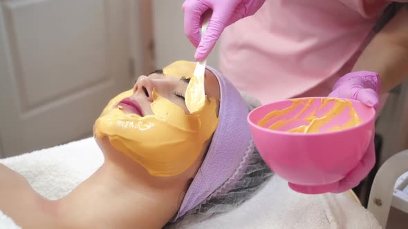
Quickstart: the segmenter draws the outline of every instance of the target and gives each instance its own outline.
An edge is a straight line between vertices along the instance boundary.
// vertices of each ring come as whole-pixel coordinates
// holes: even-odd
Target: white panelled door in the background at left
[[[131,88],[128,3],[0,0],[3,157],[90,135],[107,101]]]

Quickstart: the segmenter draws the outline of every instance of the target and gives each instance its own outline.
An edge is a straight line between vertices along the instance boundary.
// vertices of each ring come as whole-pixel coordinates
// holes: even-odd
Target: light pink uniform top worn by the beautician
[[[408,0],[403,0],[408,1]],[[262,103],[327,96],[351,71],[384,0],[266,0],[223,32],[221,71]]]

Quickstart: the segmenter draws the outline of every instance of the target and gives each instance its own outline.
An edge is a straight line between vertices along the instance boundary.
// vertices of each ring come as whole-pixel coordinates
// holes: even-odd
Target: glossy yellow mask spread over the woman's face
[[[190,77],[194,63],[176,61],[163,69],[171,77]],[[183,108],[154,93],[154,115],[126,114],[119,101],[131,97],[122,92],[111,101],[95,121],[95,135],[108,137],[116,150],[128,155],[156,177],[178,175],[192,166],[218,125],[216,99],[205,101],[199,115],[187,115]]]

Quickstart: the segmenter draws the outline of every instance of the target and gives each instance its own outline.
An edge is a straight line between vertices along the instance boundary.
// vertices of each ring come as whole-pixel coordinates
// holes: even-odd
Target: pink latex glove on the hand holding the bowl
[[[378,94],[381,92],[381,78],[375,72],[351,72],[340,78],[333,92],[328,97],[337,97],[344,99],[355,99],[361,101],[367,106],[375,109],[379,106]],[[349,174],[340,180],[340,186],[335,193],[345,192],[355,186],[358,186],[360,181],[364,179],[375,164],[375,148],[374,135],[367,151],[364,153],[360,163],[358,163]]]

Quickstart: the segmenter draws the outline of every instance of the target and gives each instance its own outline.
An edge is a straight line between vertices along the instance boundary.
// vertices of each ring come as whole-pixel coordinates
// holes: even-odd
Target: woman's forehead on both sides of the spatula
[[[190,61],[176,61],[171,63],[169,66],[163,68],[163,74],[169,77],[177,78],[191,78],[196,68],[196,63]],[[216,79],[214,73],[210,70],[205,70],[205,94],[208,97],[215,98],[217,100],[221,99],[221,92],[219,88],[219,82]]]

